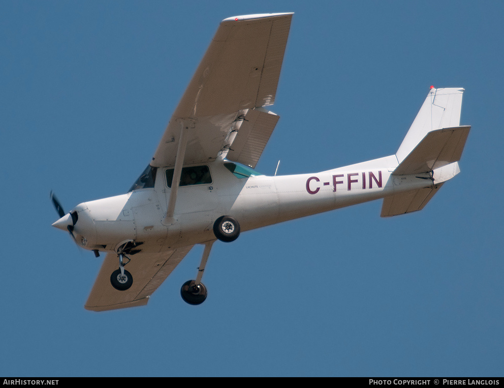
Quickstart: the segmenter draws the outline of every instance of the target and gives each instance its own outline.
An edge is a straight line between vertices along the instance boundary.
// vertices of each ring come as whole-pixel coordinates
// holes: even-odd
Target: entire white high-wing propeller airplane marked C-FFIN
[[[196,244],[195,279],[180,290],[198,305],[217,240],[383,199],[382,217],[421,210],[459,172],[470,126],[460,126],[461,88],[431,87],[393,155],[311,174],[265,176],[256,167],[279,116],[275,95],[292,13],[224,19],[176,107],[152,160],[122,195],[66,213],[51,192],[52,224],[75,243],[106,253],[85,308],[147,304]],[[128,270],[126,269],[128,268]]]

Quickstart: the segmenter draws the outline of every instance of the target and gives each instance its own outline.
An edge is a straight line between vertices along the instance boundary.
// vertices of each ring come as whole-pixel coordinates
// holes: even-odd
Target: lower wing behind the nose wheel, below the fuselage
[[[124,291],[118,291],[110,284],[110,274],[117,269],[117,255],[107,254],[84,307],[92,311],[106,311],[147,304],[149,296],[191,248],[193,246],[161,253],[139,252],[132,255],[131,262],[125,268],[135,274],[135,279],[133,285]]]

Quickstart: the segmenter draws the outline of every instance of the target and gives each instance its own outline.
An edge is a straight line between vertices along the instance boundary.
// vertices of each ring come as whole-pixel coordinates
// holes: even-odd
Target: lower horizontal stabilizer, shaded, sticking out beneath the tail
[[[441,186],[443,186],[443,183],[432,188],[411,190],[386,197],[383,200],[382,214],[380,215],[382,217],[391,217],[422,210]]]

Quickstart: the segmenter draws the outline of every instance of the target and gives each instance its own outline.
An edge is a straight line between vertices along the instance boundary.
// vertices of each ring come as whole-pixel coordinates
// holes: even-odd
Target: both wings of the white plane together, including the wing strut
[[[256,166],[279,118],[264,107],[275,101],[291,19],[292,14],[261,14],[221,22],[151,166],[175,166],[174,177],[182,165],[226,156]],[[173,215],[176,192],[175,184],[165,220]],[[110,284],[118,259],[116,254],[107,254],[85,308],[105,311],[147,304],[191,248],[136,253],[125,267],[135,274],[133,285],[123,291]]]

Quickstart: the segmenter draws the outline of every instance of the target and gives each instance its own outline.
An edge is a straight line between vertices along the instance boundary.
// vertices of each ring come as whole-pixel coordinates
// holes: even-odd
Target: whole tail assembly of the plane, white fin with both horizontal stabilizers
[[[464,89],[431,89],[397,150],[393,176],[428,173],[431,187],[384,199],[382,217],[423,209],[443,183],[460,172],[458,161],[470,126],[460,126]]]

